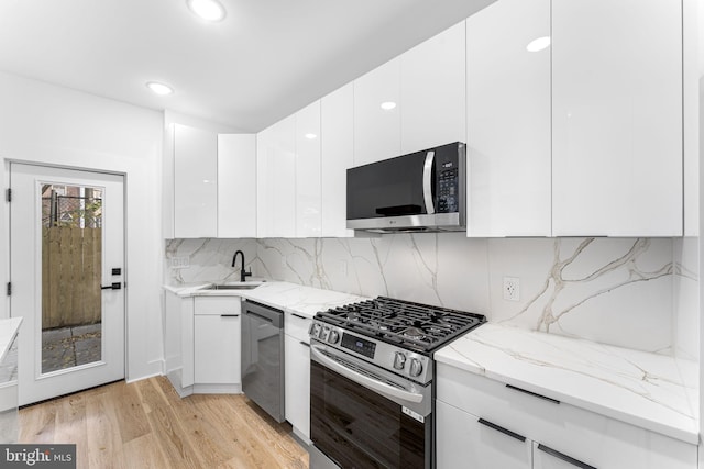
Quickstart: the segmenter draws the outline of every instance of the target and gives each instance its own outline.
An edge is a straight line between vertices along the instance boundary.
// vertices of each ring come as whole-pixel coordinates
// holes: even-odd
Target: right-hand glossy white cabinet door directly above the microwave
[[[402,154],[466,142],[464,42],[461,22],[400,56]]]

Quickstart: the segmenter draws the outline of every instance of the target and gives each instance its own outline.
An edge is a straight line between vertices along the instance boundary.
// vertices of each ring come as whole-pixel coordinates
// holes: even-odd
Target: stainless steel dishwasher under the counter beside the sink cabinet
[[[276,422],[284,422],[284,312],[242,302],[242,391]]]

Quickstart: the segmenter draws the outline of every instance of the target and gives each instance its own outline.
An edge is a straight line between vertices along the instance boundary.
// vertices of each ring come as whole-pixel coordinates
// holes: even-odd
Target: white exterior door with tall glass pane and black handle
[[[123,177],[10,165],[20,405],[124,378]]]

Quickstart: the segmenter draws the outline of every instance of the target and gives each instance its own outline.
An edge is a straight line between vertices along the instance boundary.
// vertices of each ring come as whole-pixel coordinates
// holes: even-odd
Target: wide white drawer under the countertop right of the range
[[[696,446],[438,364],[438,400],[598,468],[696,468]]]

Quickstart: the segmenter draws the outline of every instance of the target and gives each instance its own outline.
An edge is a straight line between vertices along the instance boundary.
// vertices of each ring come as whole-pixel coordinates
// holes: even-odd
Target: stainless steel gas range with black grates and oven
[[[310,467],[432,467],[432,354],[485,321],[384,297],[317,313]]]

